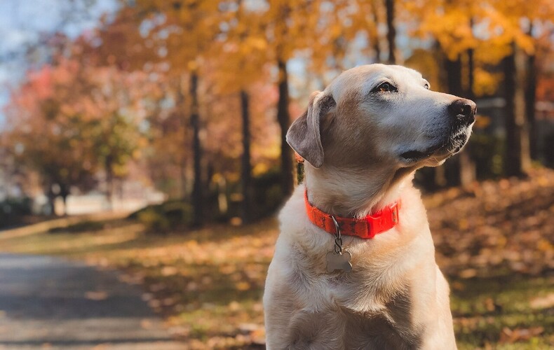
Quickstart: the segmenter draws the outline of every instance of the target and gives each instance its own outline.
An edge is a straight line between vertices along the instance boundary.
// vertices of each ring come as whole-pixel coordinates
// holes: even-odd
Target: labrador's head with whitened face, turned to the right
[[[466,144],[475,110],[471,100],[431,91],[413,69],[370,64],[314,92],[287,141],[316,168],[437,166]]]

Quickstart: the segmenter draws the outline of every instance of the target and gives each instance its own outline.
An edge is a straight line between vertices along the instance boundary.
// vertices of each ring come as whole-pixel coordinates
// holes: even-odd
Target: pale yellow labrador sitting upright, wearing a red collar
[[[306,160],[266,280],[267,349],[456,349],[414,172],[460,151],[475,103],[403,66],[344,71],[288,130]]]

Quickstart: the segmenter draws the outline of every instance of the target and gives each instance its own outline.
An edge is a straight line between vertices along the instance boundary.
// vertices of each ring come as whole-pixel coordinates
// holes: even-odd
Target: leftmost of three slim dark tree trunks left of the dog
[[[194,218],[192,224],[203,224],[203,193],[202,193],[202,148],[200,141],[200,115],[198,114],[198,74],[191,73],[191,127],[192,127],[192,152],[194,159],[194,184],[192,186],[192,206]]]

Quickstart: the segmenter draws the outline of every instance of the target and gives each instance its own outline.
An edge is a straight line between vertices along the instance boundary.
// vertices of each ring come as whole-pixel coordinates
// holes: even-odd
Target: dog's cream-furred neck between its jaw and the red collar
[[[309,202],[328,214],[363,218],[384,208],[398,198],[415,169],[367,170],[316,169],[305,165],[306,190]]]

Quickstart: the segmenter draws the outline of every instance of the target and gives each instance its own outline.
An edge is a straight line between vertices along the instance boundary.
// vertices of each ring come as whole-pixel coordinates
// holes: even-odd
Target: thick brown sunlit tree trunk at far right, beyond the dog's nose
[[[523,91],[521,52],[512,43],[512,53],[503,60],[504,94],[506,98],[506,157],[507,176],[522,176],[529,167],[529,134],[525,123],[525,92]]]

